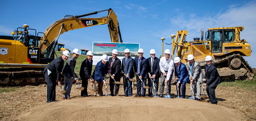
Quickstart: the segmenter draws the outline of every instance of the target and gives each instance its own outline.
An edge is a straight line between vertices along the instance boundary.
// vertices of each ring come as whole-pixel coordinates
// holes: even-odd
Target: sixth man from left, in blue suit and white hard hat
[[[122,61],[122,72],[126,74],[127,77],[132,79],[134,77],[133,65],[134,60],[130,57],[130,50],[124,50],[125,57]],[[124,96],[132,96],[132,82],[128,81],[128,78],[124,76]]]

